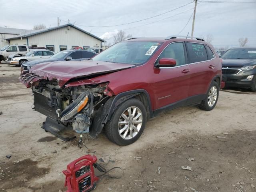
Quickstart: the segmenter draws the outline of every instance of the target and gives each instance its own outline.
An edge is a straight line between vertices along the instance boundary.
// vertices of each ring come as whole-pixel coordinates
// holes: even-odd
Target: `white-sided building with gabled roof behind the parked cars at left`
[[[28,46],[46,47],[48,50],[59,52],[74,47],[100,48],[104,42],[101,38],[74,26],[66,24],[42,30],[32,30],[26,34],[6,38],[8,44],[26,44]]]

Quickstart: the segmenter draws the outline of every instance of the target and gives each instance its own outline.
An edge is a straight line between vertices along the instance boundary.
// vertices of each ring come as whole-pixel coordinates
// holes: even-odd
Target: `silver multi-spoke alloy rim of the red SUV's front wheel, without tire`
[[[128,107],[118,121],[119,135],[125,140],[134,138],[140,132],[142,120],[142,112],[138,107]]]

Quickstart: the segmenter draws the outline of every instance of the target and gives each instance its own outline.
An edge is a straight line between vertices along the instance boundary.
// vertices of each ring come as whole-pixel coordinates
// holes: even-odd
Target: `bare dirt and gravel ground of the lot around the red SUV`
[[[85,149],[40,128],[45,116],[31,109],[32,91],[18,82],[19,70],[0,64],[0,191],[64,192],[62,170]],[[124,169],[95,192],[256,192],[256,93],[222,90],[210,112],[187,106],[161,114],[129,146],[104,134],[86,145],[106,169]]]

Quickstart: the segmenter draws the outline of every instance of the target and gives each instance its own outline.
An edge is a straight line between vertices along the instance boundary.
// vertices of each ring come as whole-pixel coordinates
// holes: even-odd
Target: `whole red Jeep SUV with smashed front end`
[[[20,81],[32,87],[42,128],[73,128],[128,145],[148,118],[196,104],[212,110],[222,79],[221,59],[200,38],[130,38],[87,61],[38,64]],[[56,131],[58,130],[58,131]]]

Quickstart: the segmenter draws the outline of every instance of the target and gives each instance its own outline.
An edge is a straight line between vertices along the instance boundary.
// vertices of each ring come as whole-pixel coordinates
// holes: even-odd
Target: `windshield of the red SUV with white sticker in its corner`
[[[92,60],[138,65],[149,60],[161,45],[162,42],[120,42],[94,56]]]

